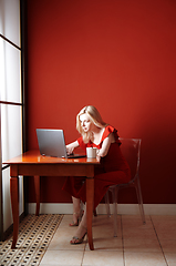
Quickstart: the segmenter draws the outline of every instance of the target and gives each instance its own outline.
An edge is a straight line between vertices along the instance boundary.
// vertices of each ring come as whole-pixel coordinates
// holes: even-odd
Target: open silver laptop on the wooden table
[[[37,129],[40,154],[43,156],[76,158],[83,154],[66,154],[63,130]]]

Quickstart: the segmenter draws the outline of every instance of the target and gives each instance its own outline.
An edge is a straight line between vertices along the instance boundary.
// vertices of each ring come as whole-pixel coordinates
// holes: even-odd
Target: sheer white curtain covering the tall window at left
[[[2,162],[22,153],[20,0],[0,0],[1,236],[12,224],[10,170]],[[23,177],[19,177],[20,214]],[[2,238],[2,237],[1,237]]]

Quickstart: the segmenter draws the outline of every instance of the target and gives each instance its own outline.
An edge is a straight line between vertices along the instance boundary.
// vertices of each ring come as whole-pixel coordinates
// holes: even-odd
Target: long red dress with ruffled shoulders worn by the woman
[[[103,196],[105,195],[108,186],[115,184],[127,183],[131,180],[130,166],[124,158],[120,145],[117,131],[107,125],[102,135],[101,143],[99,145],[93,142],[85,144],[83,139],[77,139],[80,146],[86,151],[87,146],[94,146],[97,149],[102,147],[103,141],[108,136],[110,133],[114,134],[115,142],[111,144],[107,155],[101,158],[101,164],[95,167],[94,176],[94,208],[99,205]],[[83,203],[86,201],[85,193],[85,177],[73,177],[69,176],[63,185],[63,190],[69,192],[72,196],[81,198]]]

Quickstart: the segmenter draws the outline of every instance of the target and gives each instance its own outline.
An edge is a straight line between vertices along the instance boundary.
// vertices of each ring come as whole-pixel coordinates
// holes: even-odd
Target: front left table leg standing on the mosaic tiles
[[[13,242],[11,248],[15,248],[19,233],[19,184],[17,176],[10,178],[10,193],[13,216]]]

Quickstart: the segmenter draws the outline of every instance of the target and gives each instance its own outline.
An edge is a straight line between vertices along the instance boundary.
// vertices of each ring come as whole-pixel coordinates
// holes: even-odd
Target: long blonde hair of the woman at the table
[[[102,116],[96,108],[94,108],[93,105],[87,105],[83,108],[80,111],[80,113],[76,115],[76,130],[83,136],[84,143],[89,143],[89,141],[92,140],[93,137],[92,133],[83,131],[81,126],[81,120],[80,120],[80,116],[85,113],[90,116],[91,122],[93,122],[97,127],[102,129],[102,127],[105,127],[107,124],[102,120]]]

